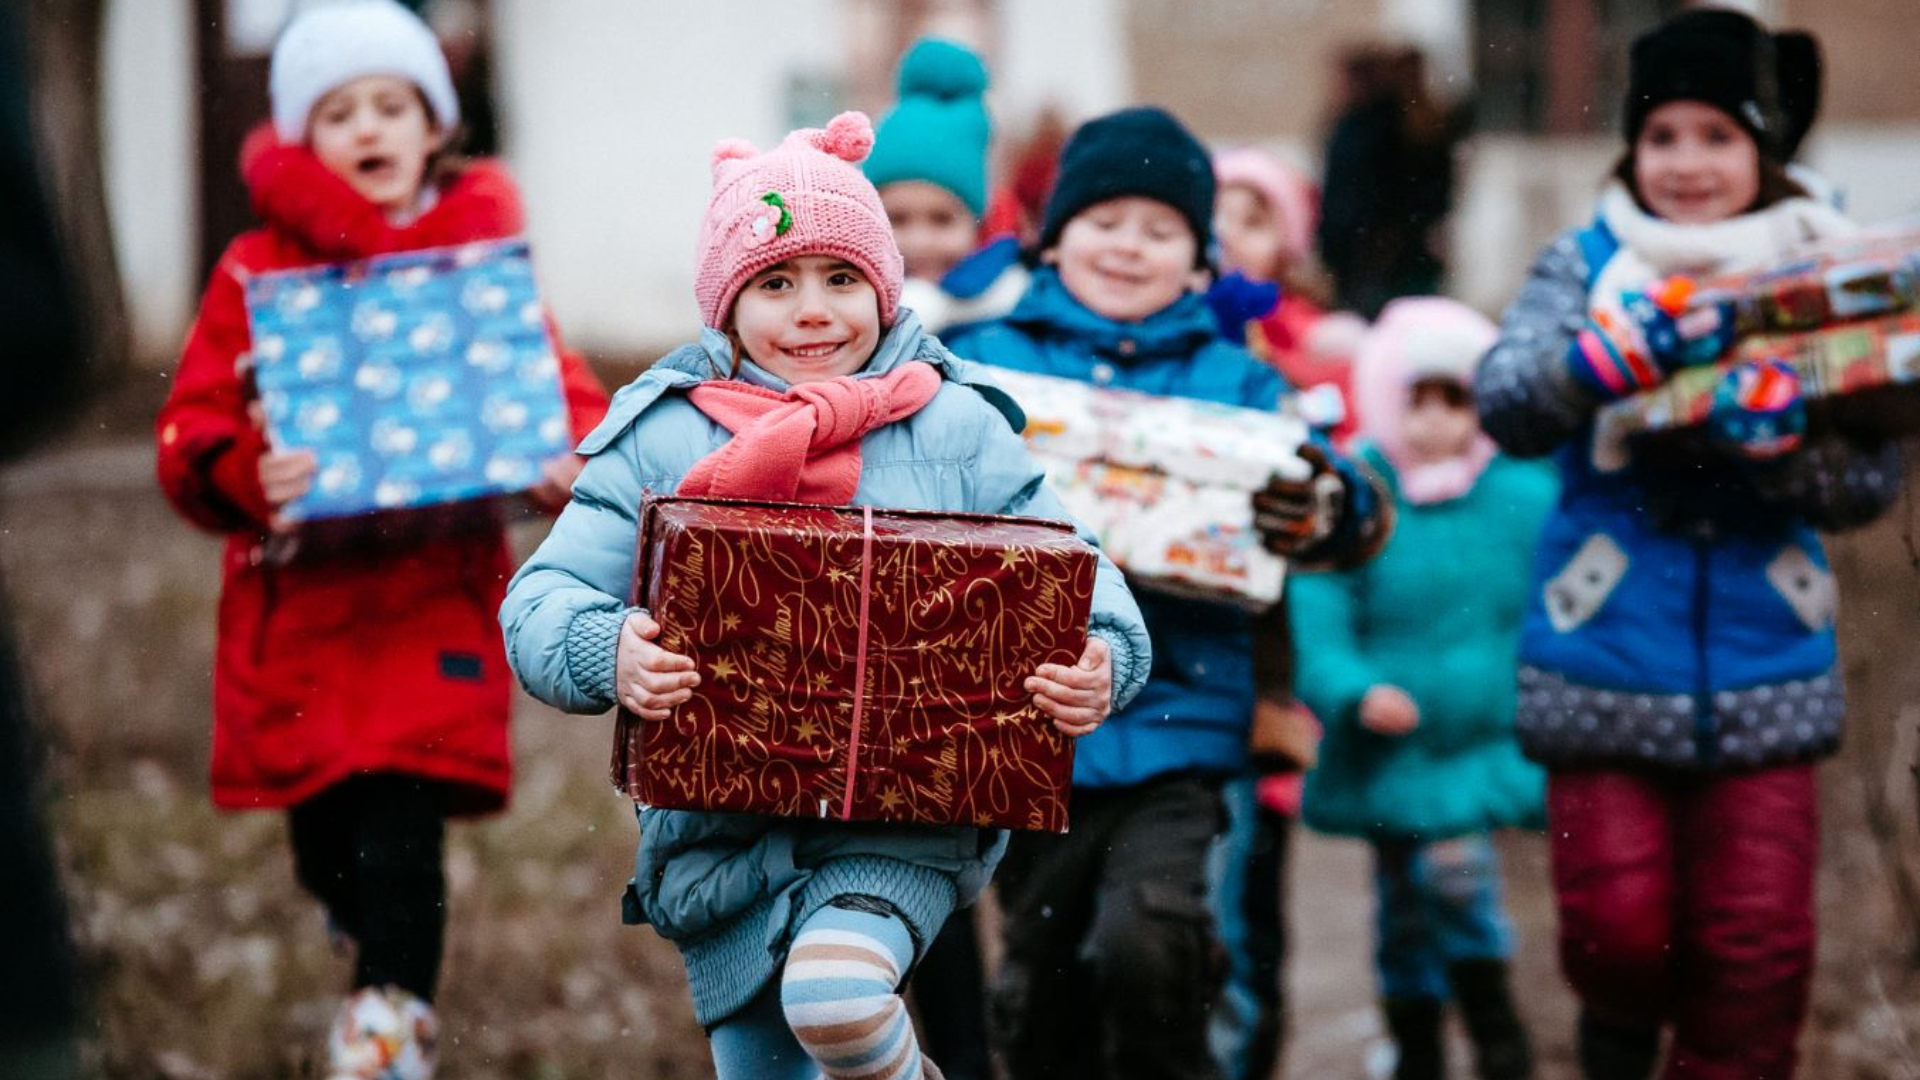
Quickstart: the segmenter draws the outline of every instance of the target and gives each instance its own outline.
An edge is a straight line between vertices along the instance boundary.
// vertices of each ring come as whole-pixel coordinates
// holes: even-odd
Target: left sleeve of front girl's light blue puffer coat
[[[520,686],[566,713],[614,705],[614,653],[639,546],[637,427],[588,457],[574,498],[499,609]]]

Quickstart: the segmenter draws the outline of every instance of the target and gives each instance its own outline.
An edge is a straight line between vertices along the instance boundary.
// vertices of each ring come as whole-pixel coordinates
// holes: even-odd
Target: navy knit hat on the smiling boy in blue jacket
[[[1213,244],[1213,161],[1181,121],[1152,106],[1091,119],[1068,138],[1041,219],[1041,250],[1060,242],[1075,213],[1129,194],[1181,211],[1206,258]]]

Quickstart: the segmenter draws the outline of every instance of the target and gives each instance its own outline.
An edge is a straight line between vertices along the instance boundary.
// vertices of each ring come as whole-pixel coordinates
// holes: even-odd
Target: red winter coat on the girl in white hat
[[[213,801],[286,807],[355,774],[449,782],[447,809],[499,809],[509,792],[511,676],[499,603],[513,561],[495,530],[328,559],[261,561],[265,442],[236,369],[250,348],[250,273],[513,236],[518,192],[493,163],[444,184],[405,229],[300,148],[250,142],[242,160],[265,229],[213,269],[159,411],[159,484],[192,523],[227,534],[213,661]],[[559,340],[555,336],[555,340]],[[561,350],[574,438],[607,392]]]

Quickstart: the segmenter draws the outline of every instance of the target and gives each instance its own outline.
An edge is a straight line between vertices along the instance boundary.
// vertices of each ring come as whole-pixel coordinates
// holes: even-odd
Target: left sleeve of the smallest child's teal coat
[[[1296,575],[1286,582],[1294,698],[1329,724],[1354,723],[1359,700],[1382,682],[1359,644],[1365,594],[1365,571]]]

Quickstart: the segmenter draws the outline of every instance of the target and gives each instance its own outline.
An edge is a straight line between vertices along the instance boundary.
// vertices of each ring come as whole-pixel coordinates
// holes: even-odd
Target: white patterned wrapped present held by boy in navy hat
[[[1286,563],[1260,544],[1252,494],[1308,469],[1306,421],[993,369],[1027,413],[1027,450],[1068,511],[1142,586],[1252,607]]]

